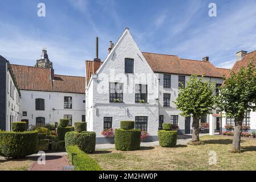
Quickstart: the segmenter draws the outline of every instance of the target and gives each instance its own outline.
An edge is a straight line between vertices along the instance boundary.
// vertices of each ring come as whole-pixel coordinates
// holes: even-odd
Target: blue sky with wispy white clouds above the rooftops
[[[38,3],[46,17],[38,17]],[[208,5],[217,5],[217,17]],[[256,49],[256,1],[124,1],[66,0],[1,1],[0,55],[11,64],[35,65],[42,47],[55,73],[84,76],[84,61],[95,57],[99,36],[101,60],[109,40],[116,42],[125,27],[144,52],[178,55],[231,68],[235,52]]]

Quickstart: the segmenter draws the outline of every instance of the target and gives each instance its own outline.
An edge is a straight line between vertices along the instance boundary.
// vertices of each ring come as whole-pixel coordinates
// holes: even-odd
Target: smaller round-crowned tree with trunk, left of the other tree
[[[186,87],[181,87],[176,99],[177,109],[181,110],[181,115],[189,117],[193,115],[192,123],[192,143],[199,142],[199,120],[202,114],[212,113],[214,109],[215,96],[213,89],[215,84],[209,80],[202,81],[203,76],[197,78],[192,75],[186,83]]]

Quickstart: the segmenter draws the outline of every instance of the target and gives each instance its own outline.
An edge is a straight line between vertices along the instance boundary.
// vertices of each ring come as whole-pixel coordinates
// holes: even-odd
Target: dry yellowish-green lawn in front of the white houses
[[[99,150],[90,156],[105,170],[256,170],[256,140],[242,139],[242,153],[231,154],[232,138],[200,137],[202,146],[141,147],[138,151]],[[209,164],[209,152],[217,164]]]

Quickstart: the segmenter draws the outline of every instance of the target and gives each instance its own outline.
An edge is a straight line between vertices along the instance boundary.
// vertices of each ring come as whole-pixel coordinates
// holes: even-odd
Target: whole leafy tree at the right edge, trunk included
[[[231,152],[241,152],[243,118],[247,110],[256,109],[256,69],[253,60],[248,67],[230,72],[220,88],[217,105],[226,117],[234,118],[234,137]]]

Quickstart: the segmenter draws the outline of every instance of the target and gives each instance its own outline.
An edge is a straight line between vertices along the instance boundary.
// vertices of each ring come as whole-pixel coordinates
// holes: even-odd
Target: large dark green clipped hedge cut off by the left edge
[[[22,158],[34,154],[38,146],[38,133],[35,131],[0,131],[0,155],[7,158]]]

